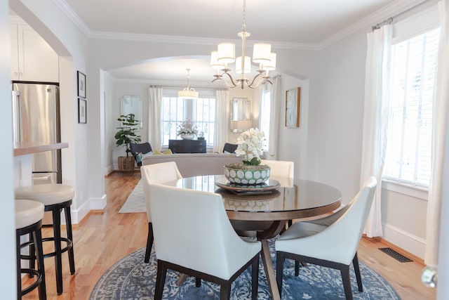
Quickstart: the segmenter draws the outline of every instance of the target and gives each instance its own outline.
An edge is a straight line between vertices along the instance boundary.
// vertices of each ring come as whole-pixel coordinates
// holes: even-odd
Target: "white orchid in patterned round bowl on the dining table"
[[[236,156],[243,156],[241,162],[225,166],[225,176],[231,183],[260,184],[269,178],[270,169],[260,164],[263,153],[264,132],[259,129],[243,131],[237,138]]]

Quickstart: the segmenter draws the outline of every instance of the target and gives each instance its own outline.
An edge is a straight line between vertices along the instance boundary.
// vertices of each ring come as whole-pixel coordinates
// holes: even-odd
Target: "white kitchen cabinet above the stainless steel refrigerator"
[[[32,27],[11,24],[11,79],[59,82],[59,57]]]

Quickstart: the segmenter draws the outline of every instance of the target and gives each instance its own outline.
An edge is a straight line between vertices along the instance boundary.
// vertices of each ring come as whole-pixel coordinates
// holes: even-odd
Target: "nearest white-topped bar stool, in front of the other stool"
[[[43,204],[32,200],[15,200],[15,251],[17,256],[17,299],[28,294],[36,287],[39,289],[39,299],[46,300],[45,268],[43,266],[42,250],[42,218]],[[32,235],[32,241],[20,244],[20,236]],[[20,254],[20,249],[30,247],[29,255]],[[34,249],[35,253],[34,253]],[[37,259],[37,269],[30,266],[22,268],[20,259],[28,259],[30,262]],[[34,263],[33,263],[34,265]],[[22,289],[22,273],[27,273],[29,277],[36,275],[36,281]]]

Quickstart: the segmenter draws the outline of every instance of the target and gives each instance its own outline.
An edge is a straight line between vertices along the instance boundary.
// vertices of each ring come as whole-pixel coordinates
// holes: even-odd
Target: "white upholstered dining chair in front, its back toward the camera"
[[[150,185],[156,239],[157,278],[154,299],[161,299],[167,269],[220,285],[229,299],[232,282],[252,266],[252,299],[257,299],[260,242],[236,234],[222,196],[215,193]]]

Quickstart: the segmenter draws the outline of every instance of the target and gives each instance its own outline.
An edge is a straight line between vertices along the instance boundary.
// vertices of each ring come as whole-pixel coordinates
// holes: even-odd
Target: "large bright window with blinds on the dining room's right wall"
[[[384,178],[428,187],[439,29],[391,47],[391,110]]]

